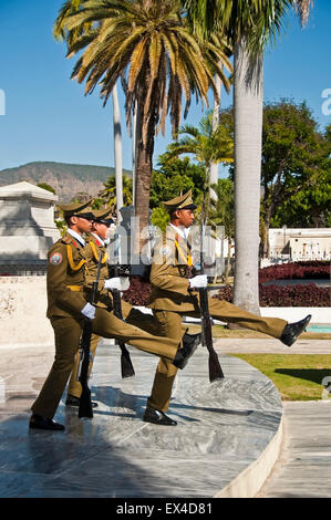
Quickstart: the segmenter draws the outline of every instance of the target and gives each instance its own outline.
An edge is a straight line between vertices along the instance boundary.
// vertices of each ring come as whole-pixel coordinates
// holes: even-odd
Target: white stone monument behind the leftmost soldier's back
[[[0,187],[0,275],[43,274],[58,197],[27,181]]]

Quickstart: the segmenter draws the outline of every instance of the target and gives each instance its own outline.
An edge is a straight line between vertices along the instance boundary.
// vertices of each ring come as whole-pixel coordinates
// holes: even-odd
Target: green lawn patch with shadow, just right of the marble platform
[[[330,377],[331,382],[331,354],[234,355],[269,377],[283,401],[319,401],[324,391],[322,379]]]

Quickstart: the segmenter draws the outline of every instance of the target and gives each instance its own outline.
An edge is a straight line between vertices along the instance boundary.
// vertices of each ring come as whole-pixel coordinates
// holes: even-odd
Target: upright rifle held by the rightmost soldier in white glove
[[[201,210],[201,248],[200,248],[200,273],[204,274],[204,249],[205,249],[205,229],[204,229],[204,212],[205,212],[205,190],[204,190],[204,202]],[[207,346],[209,353],[209,381],[213,383],[217,379],[224,378],[224,373],[219,364],[218,355],[216,354],[213,346],[213,334],[211,334],[211,316],[209,313],[208,304],[208,289],[199,288],[200,299],[200,315],[201,315],[201,344]]]

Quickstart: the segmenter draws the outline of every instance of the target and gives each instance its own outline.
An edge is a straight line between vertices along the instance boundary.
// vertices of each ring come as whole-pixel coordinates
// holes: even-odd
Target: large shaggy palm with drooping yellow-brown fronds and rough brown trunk
[[[204,44],[194,38],[180,17],[179,0],[87,0],[68,18],[68,31],[80,32],[92,22],[90,31],[69,48],[69,55],[84,51],[72,77],[86,82],[85,94],[101,85],[106,104],[118,77],[126,82],[126,119],[137,103],[138,132],[136,157],[135,209],[141,229],[148,223],[148,199],[155,134],[164,132],[169,113],[173,132],[179,126],[182,97],[185,115],[192,94],[208,104],[208,89],[216,92],[213,75],[217,73],[226,89],[228,80],[218,65],[231,65],[223,50],[213,42]]]

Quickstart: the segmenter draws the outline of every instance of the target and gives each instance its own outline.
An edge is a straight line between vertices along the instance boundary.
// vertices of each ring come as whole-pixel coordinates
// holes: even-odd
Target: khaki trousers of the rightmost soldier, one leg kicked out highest
[[[159,323],[159,333],[178,341],[182,332],[183,315],[199,318],[199,301],[196,298],[196,310],[185,312],[159,311],[154,310],[154,315]],[[208,298],[209,312],[215,320],[225,321],[227,323],[236,323],[246,329],[263,332],[273,337],[280,337],[287,321],[278,318],[261,318],[250,312],[242,311],[238,306],[225,300]],[[174,381],[177,368],[167,360],[162,358],[157,365],[152,394],[148,397],[148,405],[161,412],[167,412]]]

